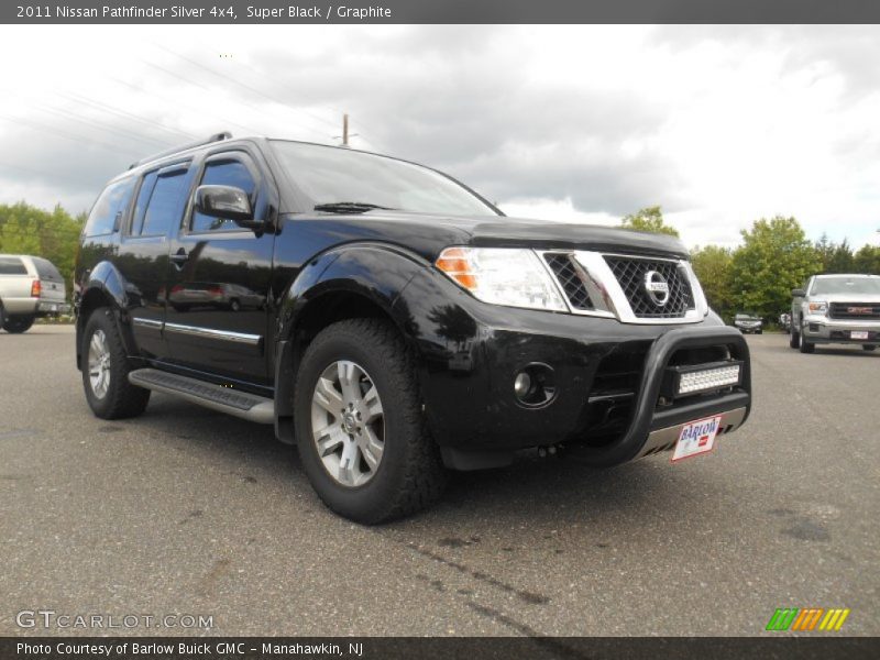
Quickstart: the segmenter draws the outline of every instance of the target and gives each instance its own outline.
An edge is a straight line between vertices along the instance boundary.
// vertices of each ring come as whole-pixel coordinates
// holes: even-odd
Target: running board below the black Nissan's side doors
[[[257,424],[274,424],[275,421],[275,402],[273,399],[240,389],[231,389],[157,369],[139,369],[130,372],[129,382],[138,387],[173,394],[199,406]]]

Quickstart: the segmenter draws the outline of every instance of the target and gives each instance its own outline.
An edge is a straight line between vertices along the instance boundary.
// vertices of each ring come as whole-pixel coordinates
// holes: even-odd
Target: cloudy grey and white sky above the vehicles
[[[508,215],[689,245],[760,217],[880,234],[880,28],[0,28],[0,202],[88,209],[132,161],[220,130],[422,162]]]

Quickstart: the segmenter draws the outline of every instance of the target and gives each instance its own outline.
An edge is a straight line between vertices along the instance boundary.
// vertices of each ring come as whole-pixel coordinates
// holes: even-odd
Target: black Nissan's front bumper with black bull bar
[[[416,321],[425,414],[451,466],[469,465],[457,453],[479,455],[473,466],[490,466],[504,464],[513,450],[558,443],[578,444],[592,464],[614,465],[670,448],[663,438],[686,422],[723,415],[727,433],[748,417],[748,345],[714,314],[697,323],[625,324],[486,306],[442,282],[442,290],[414,282],[396,305]],[[741,362],[737,386],[668,399],[671,364],[712,363],[718,351]],[[530,365],[548,367],[554,389],[535,406],[514,389]]]

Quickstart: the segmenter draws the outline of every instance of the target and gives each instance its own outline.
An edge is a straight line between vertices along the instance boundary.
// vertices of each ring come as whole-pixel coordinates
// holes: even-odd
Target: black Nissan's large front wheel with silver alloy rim
[[[433,504],[446,472],[419,397],[415,361],[377,319],[327,327],[296,381],[294,420],[304,470],[323,503],[375,525]]]

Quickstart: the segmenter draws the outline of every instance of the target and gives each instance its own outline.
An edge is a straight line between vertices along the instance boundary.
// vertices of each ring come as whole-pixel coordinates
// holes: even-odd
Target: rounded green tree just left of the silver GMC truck
[[[791,305],[791,289],[822,270],[816,249],[794,218],[777,216],[744,230],[730,264],[732,298],[738,310],[776,319]]]

